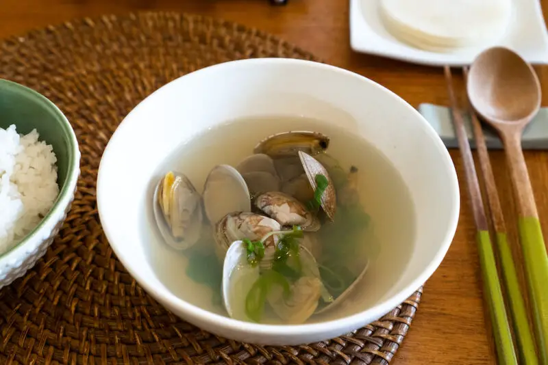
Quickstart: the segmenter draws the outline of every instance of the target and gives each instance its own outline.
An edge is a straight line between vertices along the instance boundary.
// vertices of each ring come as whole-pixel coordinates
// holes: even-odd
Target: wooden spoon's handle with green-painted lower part
[[[519,236],[525,262],[534,327],[540,360],[548,364],[548,254],[527,165],[521,150],[520,133],[503,136],[510,176],[519,208]]]

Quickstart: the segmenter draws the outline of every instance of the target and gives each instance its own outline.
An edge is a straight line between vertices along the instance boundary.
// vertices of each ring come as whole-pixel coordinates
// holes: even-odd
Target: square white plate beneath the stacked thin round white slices
[[[492,46],[506,46],[531,64],[548,64],[548,33],[539,0],[512,0],[512,6],[508,33]],[[408,46],[384,28],[379,0],[350,0],[350,45],[357,52],[430,66],[469,65],[479,53],[436,53]]]

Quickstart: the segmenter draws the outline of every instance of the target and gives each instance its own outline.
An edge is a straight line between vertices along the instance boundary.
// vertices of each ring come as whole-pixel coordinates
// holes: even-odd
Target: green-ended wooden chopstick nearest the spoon
[[[462,68],[464,73],[464,81],[468,80],[468,68]],[[466,98],[468,100],[468,98]],[[535,353],[534,339],[532,330],[527,320],[527,310],[525,309],[525,301],[519,288],[518,275],[512,258],[512,251],[508,245],[506,236],[506,224],[502,214],[501,202],[497,185],[495,185],[495,175],[489,161],[489,154],[485,143],[484,132],[479,120],[473,111],[473,107],[468,100],[467,111],[472,120],[473,134],[476,144],[477,156],[479,158],[479,167],[484,177],[484,183],[487,193],[487,202],[493,219],[493,228],[495,228],[497,249],[501,262],[501,272],[503,282],[505,284],[506,293],[508,293],[508,306],[512,315],[512,327],[516,337],[519,359],[521,364],[538,364],[538,357]]]

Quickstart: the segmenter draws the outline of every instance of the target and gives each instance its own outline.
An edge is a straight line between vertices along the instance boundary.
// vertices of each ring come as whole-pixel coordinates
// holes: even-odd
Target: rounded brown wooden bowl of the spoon
[[[540,109],[540,82],[530,64],[510,49],[494,47],[481,53],[469,71],[471,103],[495,128],[527,124]]]

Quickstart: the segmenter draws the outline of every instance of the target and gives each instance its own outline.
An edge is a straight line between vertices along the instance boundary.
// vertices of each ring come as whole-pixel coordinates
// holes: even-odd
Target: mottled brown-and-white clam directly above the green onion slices
[[[229,213],[215,226],[214,239],[217,244],[217,255],[223,260],[232,242],[241,239],[259,241],[266,234],[281,229],[282,227],[277,221],[264,217],[264,215],[251,212]],[[276,235],[272,235],[264,241],[265,257],[273,256],[276,243]]]

